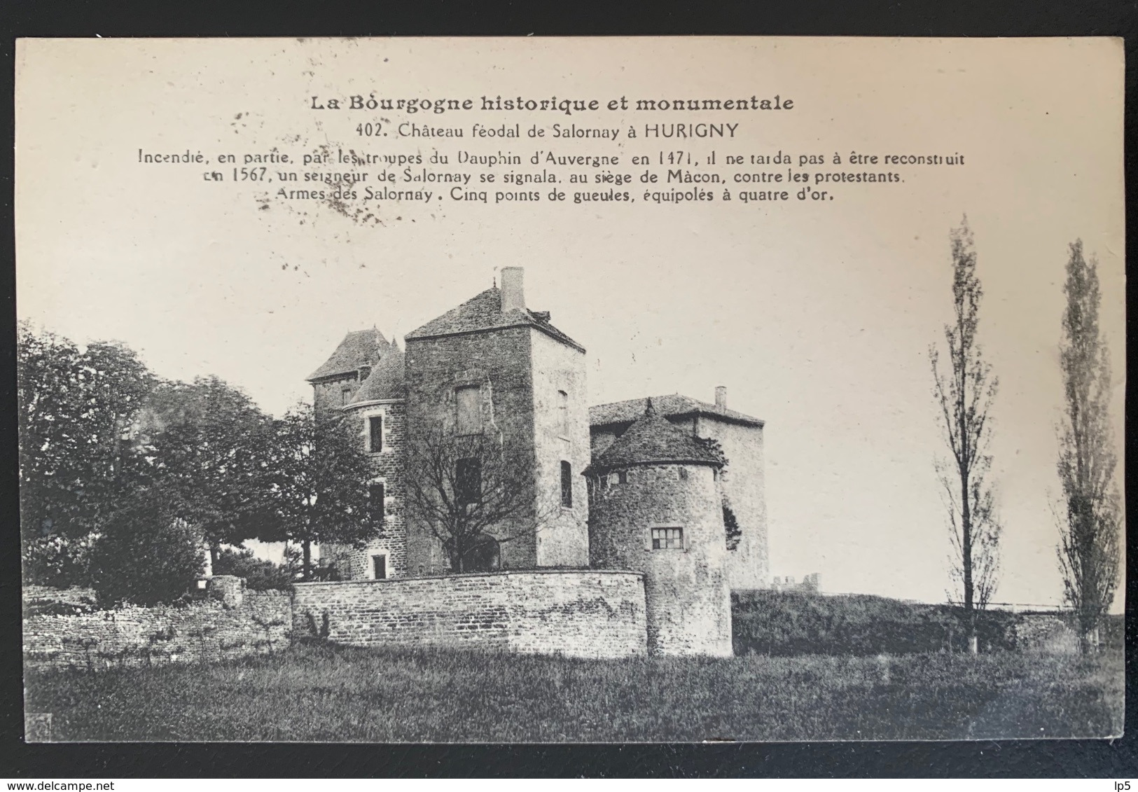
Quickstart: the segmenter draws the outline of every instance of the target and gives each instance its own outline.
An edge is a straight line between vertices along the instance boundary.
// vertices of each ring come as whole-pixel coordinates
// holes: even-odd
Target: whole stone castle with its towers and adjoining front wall
[[[714,403],[673,394],[589,407],[584,347],[526,306],[522,277],[502,270],[501,288],[412,331],[405,348],[374,329],[351,332],[308,378],[315,409],[360,432],[379,527],[363,548],[322,547],[345,581],[302,584],[298,602],[360,622],[341,627],[349,643],[445,622],[454,635],[498,630],[495,645],[549,649],[530,645],[553,629],[537,624],[552,618],[544,604],[545,616],[514,618],[509,602],[470,616],[483,594],[469,592],[498,587],[511,602],[560,609],[559,630],[616,636],[586,654],[731,654],[731,591],[768,585],[762,421],[729,410],[721,387]],[[461,567],[407,503],[423,489],[407,480],[409,453],[432,434],[492,438],[527,471],[511,484],[523,506]],[[454,612],[440,614],[444,600]],[[463,602],[475,604],[463,612]],[[605,613],[619,628],[589,621]]]

